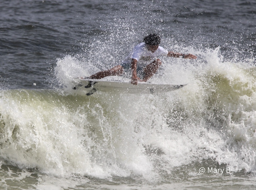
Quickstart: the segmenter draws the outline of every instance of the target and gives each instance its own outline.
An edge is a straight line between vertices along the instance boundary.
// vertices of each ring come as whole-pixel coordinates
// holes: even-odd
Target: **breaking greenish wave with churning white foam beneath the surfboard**
[[[62,90],[1,91],[0,157],[59,177],[137,183],[175,181],[200,167],[254,173],[256,70],[224,62],[218,49],[204,55],[200,64],[166,59],[161,79],[151,79],[187,82],[182,89],[91,96],[70,88],[70,68],[83,62],[66,56],[56,66]]]

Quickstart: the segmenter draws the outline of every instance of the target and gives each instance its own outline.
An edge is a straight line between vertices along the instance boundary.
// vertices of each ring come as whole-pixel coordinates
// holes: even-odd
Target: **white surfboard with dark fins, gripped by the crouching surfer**
[[[74,90],[84,90],[87,94],[92,95],[96,91],[129,93],[129,94],[153,94],[177,90],[186,84],[158,84],[150,82],[138,82],[137,85],[131,84],[131,81],[122,80],[92,80],[81,79],[73,87]]]

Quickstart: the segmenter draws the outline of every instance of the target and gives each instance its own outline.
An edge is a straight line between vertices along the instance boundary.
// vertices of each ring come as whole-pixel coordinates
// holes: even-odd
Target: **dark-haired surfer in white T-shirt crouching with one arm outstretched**
[[[95,73],[87,79],[102,79],[108,76],[121,76],[124,73],[128,73],[132,76],[131,83],[136,85],[138,81],[146,82],[156,73],[162,64],[161,60],[156,58],[159,55],[182,57],[184,59],[197,58],[192,54],[185,55],[167,51],[159,46],[160,42],[161,39],[157,34],[150,34],[144,37],[143,42],[133,48],[133,51],[122,61],[122,64]]]

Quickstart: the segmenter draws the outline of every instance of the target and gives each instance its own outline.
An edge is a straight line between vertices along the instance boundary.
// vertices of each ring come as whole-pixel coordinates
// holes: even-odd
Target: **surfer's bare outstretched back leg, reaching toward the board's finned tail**
[[[98,73],[95,73],[91,76],[89,76],[89,79],[102,79],[104,77],[109,77],[109,76],[120,76],[123,74],[123,67],[118,65],[114,66],[111,69],[105,70],[105,71],[100,71]]]

